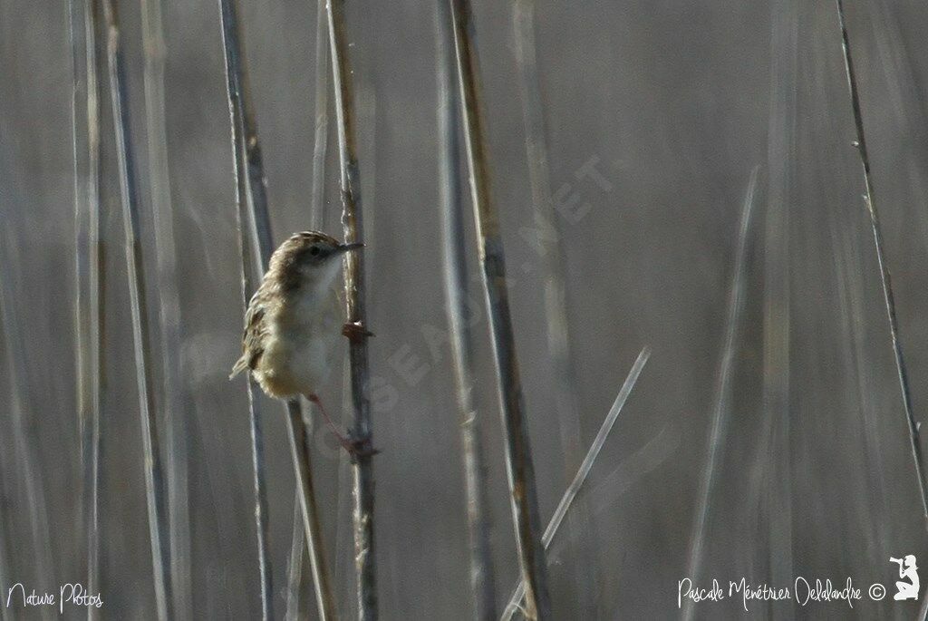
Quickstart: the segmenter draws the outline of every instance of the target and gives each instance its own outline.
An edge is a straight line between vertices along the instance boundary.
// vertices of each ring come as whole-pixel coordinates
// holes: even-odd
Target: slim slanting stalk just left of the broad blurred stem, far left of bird
[[[135,179],[135,153],[132,149],[129,107],[125,94],[125,70],[122,64],[119,22],[113,0],[103,0],[104,24],[107,31],[107,66],[110,74],[110,101],[113,135],[119,165],[119,187],[122,201],[122,224],[125,232],[125,261],[129,276],[129,303],[135,346],[135,379],[138,387],[138,411],[142,425],[142,445],[145,451],[145,485],[148,497],[148,530],[151,539],[151,560],[154,565],[155,602],[158,618],[174,618],[171,594],[171,552],[168,546],[168,516],[161,471],[161,446],[154,395],[151,392],[151,344],[148,335],[148,304],[142,243],[139,230],[138,188]]]

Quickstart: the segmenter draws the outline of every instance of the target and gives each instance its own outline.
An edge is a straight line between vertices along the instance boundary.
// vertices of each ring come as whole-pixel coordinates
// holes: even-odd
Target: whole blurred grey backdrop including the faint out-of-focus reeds
[[[74,37],[78,49],[92,40],[84,2],[0,0],[3,603],[17,582],[39,592],[82,582],[101,593],[99,618],[160,608],[179,619],[318,618],[315,572],[308,560],[294,571],[303,535],[288,421],[298,420],[260,394],[250,420],[242,382],[227,380],[243,259],[256,269],[261,240],[247,162],[236,178],[220,5],[115,5],[121,102],[111,32],[96,32],[96,65],[72,54]],[[371,566],[384,619],[503,615],[520,575],[458,69],[439,7],[352,2],[344,15],[377,334]],[[677,609],[677,581],[852,576],[889,587],[890,556],[928,559],[835,4],[478,0],[473,10],[485,189],[505,245],[542,528],[624,403],[550,540],[547,618],[741,618],[737,600]],[[847,0],[844,10],[917,422],[928,408],[928,7]],[[323,19],[316,2],[238,6],[272,247],[311,226],[343,235]],[[119,149],[117,130],[127,130]],[[79,208],[98,196],[98,213],[75,213],[75,194]],[[135,228],[123,218],[130,202]],[[137,274],[126,261],[135,238]],[[446,290],[460,294],[450,316]],[[619,403],[636,360],[638,382]],[[320,393],[347,426],[344,375]],[[462,466],[476,437],[462,443],[469,409],[485,535],[466,511],[479,478]],[[319,539],[335,608],[351,618],[354,474],[309,422]],[[145,459],[146,445],[160,459]],[[483,599],[470,586],[475,558],[489,576]],[[915,602],[865,593],[853,609],[755,602],[750,616],[917,614]],[[0,606],[2,619],[55,615]]]

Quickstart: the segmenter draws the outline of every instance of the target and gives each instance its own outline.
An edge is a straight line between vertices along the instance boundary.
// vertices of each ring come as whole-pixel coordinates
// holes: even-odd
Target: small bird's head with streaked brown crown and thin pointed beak
[[[270,271],[285,290],[304,285],[328,288],[339,275],[345,252],[363,248],[363,243],[341,243],[319,231],[303,231],[283,242],[271,257]]]

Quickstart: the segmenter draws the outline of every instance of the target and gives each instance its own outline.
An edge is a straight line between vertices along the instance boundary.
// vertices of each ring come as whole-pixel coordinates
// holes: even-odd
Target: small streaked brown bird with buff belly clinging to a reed
[[[342,445],[353,454],[357,447],[335,428],[316,390],[329,377],[339,335],[369,334],[342,322],[335,289],[342,271],[339,259],[363,247],[362,243],[339,243],[318,231],[297,233],[280,244],[261,286],[251,296],[241,357],[229,375],[231,380],[247,369],[268,396],[305,396],[319,407]]]

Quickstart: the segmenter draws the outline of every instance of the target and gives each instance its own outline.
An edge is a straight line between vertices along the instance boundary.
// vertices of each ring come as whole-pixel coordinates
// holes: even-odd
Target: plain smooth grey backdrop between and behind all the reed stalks
[[[291,0],[245,4],[240,17],[278,242],[308,221],[316,7]],[[919,0],[847,4],[876,201],[921,420],[928,404],[928,7]],[[141,34],[135,3],[121,5],[150,270]],[[163,11],[188,370],[182,415],[190,429],[193,615],[254,618],[260,602],[247,407],[242,382],[226,380],[238,356],[242,308],[218,9],[214,2],[165,0]],[[513,278],[547,521],[570,479],[550,389],[541,265],[519,234],[531,227],[532,216],[510,7],[476,2],[475,11],[493,189]],[[833,4],[590,0],[540,2],[536,13],[551,185],[589,206],[583,217],[561,221],[585,445],[638,351],[645,345],[653,350],[586,487],[596,558],[582,561],[600,567],[596,618],[679,615],[677,580],[687,571],[741,202],[755,166],[760,173],[731,425],[719,449],[720,485],[700,582],[716,577],[727,585],[745,576],[754,584],[792,586],[794,576],[806,576],[843,585],[851,576],[864,599],[853,610],[844,602],[805,608],[754,602],[746,615],[737,601],[703,602],[696,616],[912,618],[917,605],[892,602],[895,589],[879,604],[870,602],[866,590],[873,582],[889,587],[896,580],[889,556],[912,553],[928,562],[928,538],[860,199],[862,178],[850,146],[854,128]],[[382,450],[375,462],[380,608],[385,619],[468,618],[448,348],[432,349],[428,340],[445,327],[432,5],[350,3],[348,17],[370,325],[377,333],[371,367],[386,386],[375,399],[374,422]],[[74,390],[70,81],[64,4],[0,2],[0,270],[15,326],[0,343],[20,367],[19,376],[5,371],[0,381],[0,535],[7,581],[40,592],[85,576]],[[153,618],[108,105],[103,114],[108,251],[102,614]],[[334,160],[329,162],[327,229],[338,234],[337,175]],[[578,179],[585,164],[596,166],[607,184]],[[150,304],[158,301],[154,282],[149,278]],[[476,281],[471,294],[481,299]],[[485,323],[475,333],[502,597],[514,583],[517,563]],[[782,365],[771,368],[778,351],[785,352]],[[778,381],[786,386],[785,400],[765,401],[765,385],[769,391]],[[322,395],[338,412],[341,382],[331,382]],[[15,408],[38,457],[32,474],[19,459],[14,434],[7,433]],[[266,404],[264,420],[279,613],[293,475],[279,408]],[[347,615],[354,605],[350,477],[328,432],[320,429],[315,446],[329,556]],[[31,484],[44,499],[47,533],[36,535],[24,510]],[[565,534],[553,546],[552,599],[557,618],[576,618],[573,546]],[[36,537],[45,542],[38,550]],[[50,562],[48,571],[42,558]],[[10,618],[21,614],[13,611]]]

